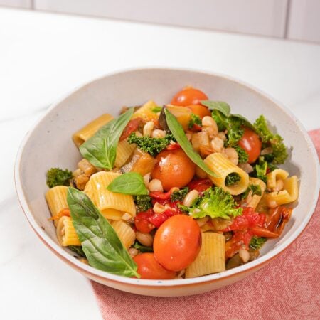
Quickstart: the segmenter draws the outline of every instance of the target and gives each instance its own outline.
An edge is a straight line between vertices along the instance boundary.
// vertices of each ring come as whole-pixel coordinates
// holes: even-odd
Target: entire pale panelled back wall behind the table
[[[0,0],[0,5],[320,42],[320,0]]]

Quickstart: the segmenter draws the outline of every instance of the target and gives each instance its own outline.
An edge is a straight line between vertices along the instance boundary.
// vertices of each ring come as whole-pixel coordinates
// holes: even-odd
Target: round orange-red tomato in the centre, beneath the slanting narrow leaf
[[[196,173],[194,164],[182,149],[164,150],[156,156],[156,166],[151,178],[159,179],[168,191],[170,188],[186,186]]]

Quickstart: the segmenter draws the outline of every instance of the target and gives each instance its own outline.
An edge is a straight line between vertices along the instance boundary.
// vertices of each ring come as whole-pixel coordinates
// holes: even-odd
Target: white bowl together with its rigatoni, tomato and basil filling
[[[117,289],[171,296],[235,282],[297,238],[315,206],[309,194],[308,214],[299,213],[308,193],[291,142],[301,142],[314,157],[309,168],[318,169],[303,129],[275,102],[228,78],[119,73],[74,92],[43,120],[59,145],[46,151],[37,175],[46,202],[41,193],[23,195],[28,220],[45,228],[36,232],[57,255]],[[24,191],[31,171],[23,170],[23,151],[16,178]]]

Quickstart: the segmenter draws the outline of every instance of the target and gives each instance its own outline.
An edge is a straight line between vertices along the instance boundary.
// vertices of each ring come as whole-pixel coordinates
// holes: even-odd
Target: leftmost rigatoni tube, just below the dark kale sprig
[[[68,208],[67,203],[67,186],[55,186],[46,192],[46,201],[52,216],[58,215],[61,210]],[[57,226],[58,220],[53,220]]]

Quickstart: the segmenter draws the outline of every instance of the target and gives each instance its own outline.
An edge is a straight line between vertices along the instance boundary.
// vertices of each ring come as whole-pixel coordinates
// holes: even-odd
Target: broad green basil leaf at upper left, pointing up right
[[[133,108],[112,119],[80,146],[80,153],[93,166],[111,170],[117,156],[117,144],[129,122]]]

